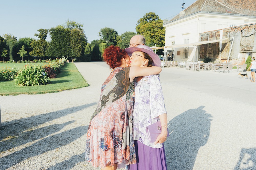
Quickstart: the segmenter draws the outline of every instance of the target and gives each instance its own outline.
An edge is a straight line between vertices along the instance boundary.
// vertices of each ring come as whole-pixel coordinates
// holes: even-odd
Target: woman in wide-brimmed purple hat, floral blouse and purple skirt
[[[161,60],[145,45],[124,49],[130,55],[130,65],[140,67],[161,66]],[[134,83],[135,104],[133,109],[133,139],[137,163],[131,170],[166,170],[163,142],[167,138],[167,114],[162,87],[158,75],[137,77]],[[147,126],[161,122],[162,132],[154,142],[147,133]]]

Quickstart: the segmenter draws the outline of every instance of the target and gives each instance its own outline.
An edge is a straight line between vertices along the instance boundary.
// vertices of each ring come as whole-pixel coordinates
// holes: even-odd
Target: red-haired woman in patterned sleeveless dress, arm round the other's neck
[[[158,74],[160,67],[128,67],[129,56],[119,47],[105,49],[104,60],[112,72],[101,87],[100,101],[89,124],[86,160],[102,169],[116,169],[135,164],[132,135],[133,80],[138,76]]]

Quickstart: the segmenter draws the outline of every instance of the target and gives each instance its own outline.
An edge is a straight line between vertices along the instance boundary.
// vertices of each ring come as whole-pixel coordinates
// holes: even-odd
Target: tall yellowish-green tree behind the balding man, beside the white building
[[[164,46],[165,44],[165,28],[163,20],[161,20],[155,12],[146,13],[137,21],[136,31],[138,34],[144,35],[147,46]]]

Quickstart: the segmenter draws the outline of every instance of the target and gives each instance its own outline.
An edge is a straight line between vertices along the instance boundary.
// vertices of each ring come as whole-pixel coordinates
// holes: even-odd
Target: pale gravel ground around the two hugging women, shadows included
[[[110,73],[75,63],[89,87],[0,96],[0,169],[100,169],[84,161],[89,119]],[[238,73],[163,68],[168,169],[256,169],[256,84]]]

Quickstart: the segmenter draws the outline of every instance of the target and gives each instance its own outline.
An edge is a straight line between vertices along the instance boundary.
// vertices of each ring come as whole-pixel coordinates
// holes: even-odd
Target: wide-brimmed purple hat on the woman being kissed
[[[125,48],[124,50],[128,55],[131,55],[134,51],[142,51],[144,53],[147,53],[153,60],[153,63],[152,63],[153,66],[157,66],[157,67],[161,66],[161,60],[158,57],[158,55],[156,55],[154,51],[146,45],[137,45],[136,47],[129,47],[129,48]]]

